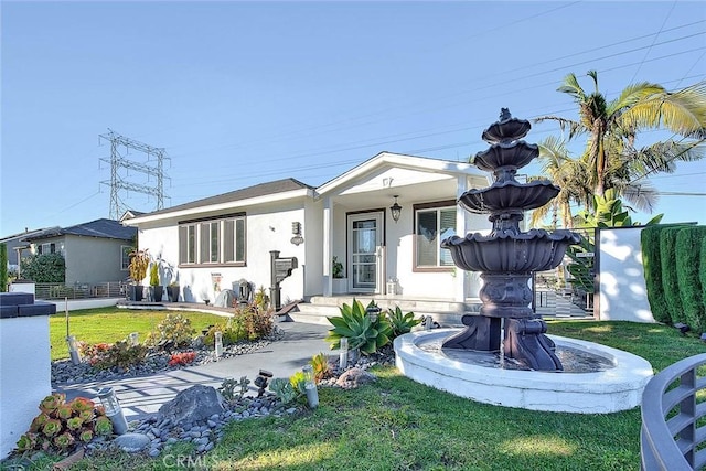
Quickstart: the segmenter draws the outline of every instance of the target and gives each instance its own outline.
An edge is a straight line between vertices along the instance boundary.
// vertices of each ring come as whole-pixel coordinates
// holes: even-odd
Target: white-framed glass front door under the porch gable
[[[383,245],[383,214],[349,215],[349,290],[351,292],[379,292],[378,272]]]

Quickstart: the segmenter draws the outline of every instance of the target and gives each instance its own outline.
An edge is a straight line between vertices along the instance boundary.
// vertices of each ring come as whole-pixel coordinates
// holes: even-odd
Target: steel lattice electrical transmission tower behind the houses
[[[164,160],[169,160],[167,152],[163,148],[148,146],[146,143],[136,141],[125,136],[120,136],[113,129],[108,128],[108,133],[99,135],[98,142],[107,140],[110,142],[110,158],[101,158],[100,160],[110,165],[110,181],[103,181],[101,184],[110,185],[110,218],[118,220],[122,213],[128,208],[126,207],[118,195],[118,190],[131,190],[137,193],[145,193],[152,195],[157,199],[157,210],[164,207],[164,179],[168,179],[164,174]],[[147,162],[152,159],[157,160],[157,165],[150,165],[148,163],[140,163],[132,160],[128,160],[120,154],[120,150],[125,148],[126,153],[131,150],[137,150],[147,154]],[[135,183],[127,181],[122,178],[118,169],[126,169],[122,172],[127,175],[127,170],[135,170],[140,173],[145,173],[148,176],[148,181],[151,176],[154,178],[154,185],[145,185],[141,183]]]

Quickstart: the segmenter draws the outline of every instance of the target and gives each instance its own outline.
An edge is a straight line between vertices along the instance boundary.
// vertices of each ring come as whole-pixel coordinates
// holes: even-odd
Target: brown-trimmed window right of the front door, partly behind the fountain
[[[415,268],[448,270],[454,266],[451,253],[440,247],[441,236],[456,232],[454,203],[415,205]]]

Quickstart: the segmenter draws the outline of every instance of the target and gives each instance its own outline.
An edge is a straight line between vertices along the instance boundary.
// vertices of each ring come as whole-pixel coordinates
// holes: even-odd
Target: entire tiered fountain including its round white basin
[[[460,331],[397,338],[397,367],[420,383],[490,404],[591,414],[635,407],[652,376],[646,361],[590,342],[549,338],[546,323],[531,308],[532,272],[556,268],[579,237],[569,231],[520,229],[525,211],[559,192],[547,180],[515,180],[517,169],[539,153],[537,146],[520,140],[530,128],[530,121],[512,118],[503,108],[500,121],[483,131],[491,147],[473,163],[493,172],[494,182],[463,193],[459,204],[490,214],[492,232],[441,243],[459,268],[482,272],[480,315],[463,315]]]

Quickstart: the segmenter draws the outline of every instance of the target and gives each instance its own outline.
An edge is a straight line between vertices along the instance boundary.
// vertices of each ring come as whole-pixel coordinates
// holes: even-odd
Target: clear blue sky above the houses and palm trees
[[[597,69],[609,98],[706,78],[706,2],[3,1],[1,26],[0,236],[107,217],[108,128],[167,149],[175,205],[318,185],[385,150],[467,161],[501,107],[575,118],[570,72],[590,89]],[[706,223],[705,176],[651,180],[665,222]]]

